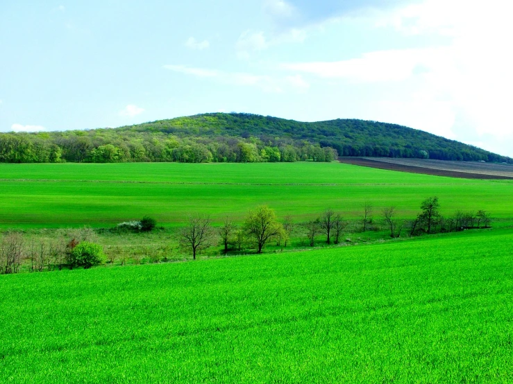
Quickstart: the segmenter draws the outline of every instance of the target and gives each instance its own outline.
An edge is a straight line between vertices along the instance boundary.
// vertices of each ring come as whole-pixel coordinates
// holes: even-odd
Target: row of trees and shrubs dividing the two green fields
[[[304,238],[310,247],[316,245],[319,236],[323,242],[339,244],[344,241],[344,234],[368,232],[387,229],[391,238],[401,236],[421,236],[444,232],[459,232],[465,229],[489,228],[491,217],[487,211],[456,211],[452,216],[444,217],[439,209],[436,196],[421,202],[421,211],[414,219],[398,218],[395,207],[385,207],[375,211],[370,202],[362,206],[357,220],[346,220],[342,212],[333,209],[324,210],[317,218],[296,223],[291,216],[278,220],[276,212],[265,206],[249,211],[242,225],[226,217],[224,222],[215,227],[210,216],[192,214],[178,233],[178,242],[183,252],[196,260],[196,256],[210,247],[221,244],[224,254],[230,251],[241,252],[248,247],[260,254],[266,245],[285,248],[292,238]],[[122,222],[113,228],[113,232],[151,232],[155,229],[153,218],[145,216],[142,220]],[[72,229],[66,234],[42,241],[32,240],[28,244],[22,234],[8,232],[0,243],[0,274],[19,272],[24,260],[30,262],[31,272],[43,270],[60,270],[62,268],[90,268],[105,263],[108,256],[97,244],[96,233],[90,228]],[[112,259],[111,259],[112,262]]]

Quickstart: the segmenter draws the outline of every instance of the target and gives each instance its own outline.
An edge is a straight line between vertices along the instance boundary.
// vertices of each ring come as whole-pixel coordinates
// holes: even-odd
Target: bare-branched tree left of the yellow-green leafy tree
[[[215,244],[215,232],[209,216],[190,215],[187,225],[182,229],[180,243],[192,250],[192,259],[196,254]]]

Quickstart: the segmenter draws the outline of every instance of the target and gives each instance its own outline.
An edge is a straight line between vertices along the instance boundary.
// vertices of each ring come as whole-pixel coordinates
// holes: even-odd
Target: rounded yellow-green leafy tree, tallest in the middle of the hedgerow
[[[249,211],[244,221],[246,235],[255,241],[258,253],[262,253],[267,241],[283,231],[282,225],[276,221],[276,213],[267,205],[261,205],[254,211]]]

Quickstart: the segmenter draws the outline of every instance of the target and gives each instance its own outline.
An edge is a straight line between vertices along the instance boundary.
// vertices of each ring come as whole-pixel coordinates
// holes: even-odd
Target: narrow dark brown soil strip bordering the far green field
[[[423,175],[457,177],[460,179],[480,179],[480,180],[513,180],[513,177],[486,175],[483,173],[467,173],[451,170],[441,170],[435,168],[424,168],[421,166],[406,166],[403,164],[393,164],[380,162],[378,160],[363,159],[362,157],[339,157],[339,162],[344,164],[353,164],[355,166],[368,166],[371,168],[386,169],[387,171],[399,171],[408,173],[421,173]]]

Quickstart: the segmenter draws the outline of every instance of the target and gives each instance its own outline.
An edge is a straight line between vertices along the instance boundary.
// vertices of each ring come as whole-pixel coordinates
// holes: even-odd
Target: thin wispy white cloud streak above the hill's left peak
[[[184,73],[198,78],[208,78],[212,81],[225,85],[236,85],[240,87],[255,87],[265,92],[280,93],[286,90],[305,91],[308,83],[301,76],[286,76],[274,78],[269,75],[255,75],[244,72],[226,72],[217,69],[203,69],[187,67],[185,65],[165,65],[165,69]]]

